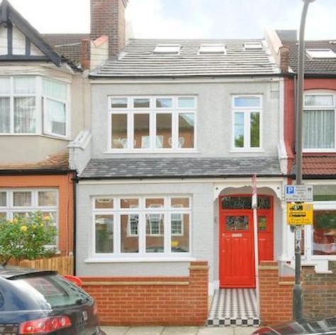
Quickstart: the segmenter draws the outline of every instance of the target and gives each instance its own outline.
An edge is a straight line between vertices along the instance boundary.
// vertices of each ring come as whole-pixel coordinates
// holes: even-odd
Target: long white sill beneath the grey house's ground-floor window
[[[183,257],[138,257],[138,258],[86,258],[84,263],[162,263],[162,262],[192,262],[196,258],[191,256]]]

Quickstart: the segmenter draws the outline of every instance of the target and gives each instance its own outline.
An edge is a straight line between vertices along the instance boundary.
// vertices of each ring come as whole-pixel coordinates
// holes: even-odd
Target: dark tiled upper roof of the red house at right
[[[294,72],[298,71],[298,43],[282,40],[289,47],[289,66]],[[336,53],[336,41],[332,40],[307,40],[306,49],[331,49]],[[312,59],[307,53],[305,57],[305,73],[316,75],[335,75],[336,58]]]

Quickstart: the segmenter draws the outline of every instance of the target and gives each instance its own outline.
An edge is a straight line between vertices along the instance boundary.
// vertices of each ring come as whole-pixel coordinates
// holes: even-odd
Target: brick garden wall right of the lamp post
[[[320,318],[336,315],[336,262],[329,262],[332,273],[315,273],[314,266],[303,266],[303,315]]]

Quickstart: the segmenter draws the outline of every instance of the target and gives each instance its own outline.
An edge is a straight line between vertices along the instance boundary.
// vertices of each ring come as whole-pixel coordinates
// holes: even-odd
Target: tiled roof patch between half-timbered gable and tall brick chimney
[[[81,65],[82,40],[90,38],[90,34],[43,34],[48,43],[53,45],[58,53]]]

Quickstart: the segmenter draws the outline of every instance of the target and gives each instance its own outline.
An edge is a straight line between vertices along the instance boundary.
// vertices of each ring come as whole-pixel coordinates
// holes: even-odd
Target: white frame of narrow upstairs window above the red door
[[[258,98],[260,101],[259,107],[255,106],[235,106],[236,98]],[[263,150],[263,109],[264,102],[262,99],[262,94],[235,94],[232,96],[232,141],[231,141],[231,152],[260,152]],[[242,113],[244,115],[244,146],[242,148],[238,148],[235,146],[235,114]],[[251,114],[259,113],[259,147],[251,147]]]

